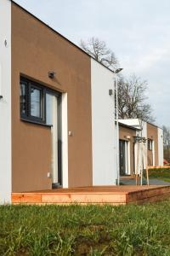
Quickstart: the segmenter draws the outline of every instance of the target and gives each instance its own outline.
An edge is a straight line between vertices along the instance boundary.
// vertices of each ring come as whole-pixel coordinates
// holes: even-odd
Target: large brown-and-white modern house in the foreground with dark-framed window
[[[10,0],[0,39],[0,201],[116,184],[114,73]]]

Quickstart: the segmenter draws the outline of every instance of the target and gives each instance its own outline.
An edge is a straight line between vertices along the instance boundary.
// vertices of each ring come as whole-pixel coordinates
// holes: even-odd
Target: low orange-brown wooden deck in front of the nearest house
[[[112,204],[161,201],[170,186],[97,186],[12,193],[13,204]]]

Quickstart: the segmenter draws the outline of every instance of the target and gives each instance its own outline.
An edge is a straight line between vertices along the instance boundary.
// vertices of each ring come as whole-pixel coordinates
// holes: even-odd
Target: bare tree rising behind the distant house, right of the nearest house
[[[152,108],[147,103],[145,92],[148,88],[147,81],[132,75],[129,79],[120,77],[118,82],[119,117],[121,119],[143,119],[154,122]]]

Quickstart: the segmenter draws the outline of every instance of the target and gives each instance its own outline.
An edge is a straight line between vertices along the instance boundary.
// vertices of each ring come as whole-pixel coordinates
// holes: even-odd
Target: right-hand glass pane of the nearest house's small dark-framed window
[[[31,86],[31,116],[42,118],[42,93],[41,90]]]

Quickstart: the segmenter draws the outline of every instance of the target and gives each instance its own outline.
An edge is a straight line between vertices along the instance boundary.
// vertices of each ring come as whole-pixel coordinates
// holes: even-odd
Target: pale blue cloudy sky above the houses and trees
[[[169,0],[15,0],[75,44],[96,37],[122,74],[147,80],[157,125],[170,126]]]

